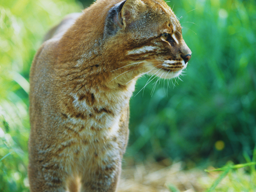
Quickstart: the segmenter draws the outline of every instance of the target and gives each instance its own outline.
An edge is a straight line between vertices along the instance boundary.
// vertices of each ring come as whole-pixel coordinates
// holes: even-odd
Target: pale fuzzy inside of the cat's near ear
[[[141,0],[126,0],[119,13],[122,24],[126,26],[128,23],[131,23],[145,8],[145,4]]]

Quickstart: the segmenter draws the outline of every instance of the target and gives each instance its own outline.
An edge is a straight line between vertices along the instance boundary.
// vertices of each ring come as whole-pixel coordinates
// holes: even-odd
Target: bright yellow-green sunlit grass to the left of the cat
[[[10,0],[0,3],[0,191],[28,189],[29,68],[43,35],[75,1]]]

